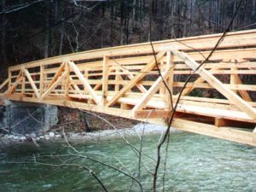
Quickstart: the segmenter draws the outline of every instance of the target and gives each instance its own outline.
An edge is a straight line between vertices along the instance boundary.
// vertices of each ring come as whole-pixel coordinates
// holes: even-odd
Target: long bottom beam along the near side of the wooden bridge
[[[14,101],[20,101],[20,98],[15,96],[10,96],[10,99]],[[42,101],[40,101],[37,98],[29,98],[29,97],[25,97],[24,102],[42,103]],[[126,111],[123,109],[106,108],[100,105],[90,105],[83,102],[68,101],[67,98],[65,97],[57,98],[55,100],[44,100],[43,102],[45,104],[65,106],[68,108],[80,108],[84,110],[94,111],[97,113],[107,113],[107,114],[111,114],[111,115],[115,115],[123,118],[134,119],[134,116],[131,113],[129,113],[129,111]],[[143,119],[137,119],[137,120],[150,122],[158,125],[166,125],[166,121],[162,118],[160,119],[143,118]],[[194,132],[201,135],[230,140],[236,143],[243,143],[243,144],[256,146],[255,132],[241,131],[237,129],[232,129],[231,127],[217,128],[215,125],[207,125],[204,123],[198,123],[198,122],[185,120],[185,119],[174,119],[172,123],[172,127],[176,128],[177,130]]]

